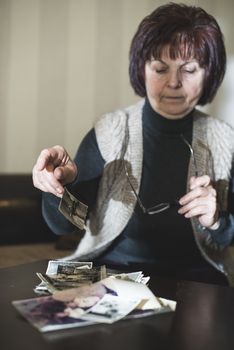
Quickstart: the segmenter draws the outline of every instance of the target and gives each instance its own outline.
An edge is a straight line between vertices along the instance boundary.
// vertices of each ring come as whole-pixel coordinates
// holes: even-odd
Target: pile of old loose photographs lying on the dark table
[[[49,261],[45,274],[37,273],[39,296],[13,301],[13,306],[41,332],[111,324],[175,310],[176,302],[156,297],[141,271],[108,273],[92,262]],[[43,295],[44,294],[44,295]]]

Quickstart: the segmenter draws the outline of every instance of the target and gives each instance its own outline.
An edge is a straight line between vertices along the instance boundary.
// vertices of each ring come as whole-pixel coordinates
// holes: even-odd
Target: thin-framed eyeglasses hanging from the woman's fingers
[[[190,155],[192,157],[192,161],[194,164],[195,176],[197,177],[198,176],[198,168],[197,168],[197,163],[196,163],[196,158],[194,155],[193,148],[183,135],[180,135],[180,137],[189,148]],[[154,215],[154,214],[161,213],[169,208],[180,206],[178,199],[175,199],[175,200],[170,201],[170,202],[159,203],[159,204],[154,205],[153,207],[145,208],[145,206],[143,205],[139,195],[137,194],[137,192],[133,186],[133,183],[131,182],[130,175],[129,175],[129,172],[128,172],[128,169],[126,166],[126,162],[123,162],[123,163],[124,163],[124,170],[125,170],[125,174],[126,174],[126,177],[128,179],[129,185],[132,189],[132,192],[134,193],[134,195],[136,197],[136,200],[137,200],[139,207],[141,208],[141,210],[143,211],[144,214]]]

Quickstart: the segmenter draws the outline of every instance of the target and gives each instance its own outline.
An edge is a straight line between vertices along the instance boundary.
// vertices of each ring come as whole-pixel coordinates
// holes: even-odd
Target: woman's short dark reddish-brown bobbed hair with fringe
[[[145,63],[158,59],[169,45],[171,59],[195,58],[205,69],[204,87],[198,101],[213,100],[226,71],[224,38],[216,19],[196,6],[168,3],[146,16],[132,39],[129,76],[135,93],[146,96]]]

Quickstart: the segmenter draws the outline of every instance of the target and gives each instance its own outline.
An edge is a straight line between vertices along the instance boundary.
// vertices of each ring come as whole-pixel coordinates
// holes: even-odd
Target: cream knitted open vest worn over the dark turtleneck
[[[123,161],[127,163],[139,192],[143,162],[143,104],[144,101],[140,101],[106,114],[95,125],[97,143],[106,163],[96,208],[90,213],[87,231],[70,259],[86,260],[98,256],[123,231],[133,213],[136,199],[127,182]],[[195,110],[192,146],[200,175],[215,177],[220,209],[225,210],[234,154],[234,130],[225,122]],[[190,160],[188,179],[194,174],[194,163]],[[199,225],[198,220],[192,220],[192,227],[205,259],[223,270],[222,261],[216,261],[220,247],[212,244],[209,232]],[[221,250],[222,254],[224,250]]]

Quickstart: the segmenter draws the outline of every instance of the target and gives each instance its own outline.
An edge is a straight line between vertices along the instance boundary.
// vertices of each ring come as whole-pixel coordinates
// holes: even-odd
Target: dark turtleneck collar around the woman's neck
[[[143,124],[150,134],[176,136],[192,128],[193,110],[181,119],[167,119],[155,112],[146,98],[143,106]]]

